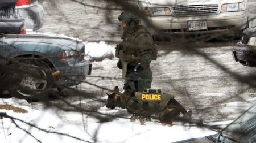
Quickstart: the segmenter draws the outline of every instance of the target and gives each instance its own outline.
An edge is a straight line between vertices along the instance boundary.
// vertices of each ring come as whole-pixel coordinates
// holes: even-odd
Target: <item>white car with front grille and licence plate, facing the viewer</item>
[[[222,34],[242,37],[249,27],[247,0],[142,0],[129,1],[168,34]],[[149,29],[153,36],[156,31]]]

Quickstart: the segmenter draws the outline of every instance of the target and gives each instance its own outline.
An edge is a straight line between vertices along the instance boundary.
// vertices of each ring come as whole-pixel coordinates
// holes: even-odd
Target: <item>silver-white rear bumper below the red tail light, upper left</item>
[[[32,5],[31,7],[16,8],[20,16],[25,19],[27,29],[36,31],[43,26],[44,12],[43,7],[39,4]]]

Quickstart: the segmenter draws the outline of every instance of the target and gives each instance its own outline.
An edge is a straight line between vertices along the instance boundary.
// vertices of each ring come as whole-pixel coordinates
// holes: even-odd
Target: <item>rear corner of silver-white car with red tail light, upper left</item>
[[[18,0],[16,2],[15,10],[25,19],[25,26],[27,29],[36,31],[43,26],[44,11],[43,7],[39,5],[38,0]]]

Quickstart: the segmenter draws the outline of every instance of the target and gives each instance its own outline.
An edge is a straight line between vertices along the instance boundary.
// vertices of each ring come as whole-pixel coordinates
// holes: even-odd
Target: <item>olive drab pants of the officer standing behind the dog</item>
[[[152,71],[150,67],[143,69],[143,71],[138,73],[138,79],[135,81],[128,81],[128,77],[130,76],[131,72],[127,71],[125,77],[125,86],[123,86],[124,90],[134,90],[137,92],[143,92],[144,89],[151,88],[152,83]]]

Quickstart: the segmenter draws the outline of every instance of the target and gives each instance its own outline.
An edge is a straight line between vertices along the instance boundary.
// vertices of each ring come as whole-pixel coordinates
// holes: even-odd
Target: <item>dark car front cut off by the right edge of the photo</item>
[[[244,66],[256,67],[256,27],[243,31],[240,45],[232,50],[233,59]]]

